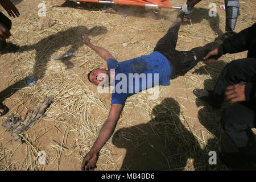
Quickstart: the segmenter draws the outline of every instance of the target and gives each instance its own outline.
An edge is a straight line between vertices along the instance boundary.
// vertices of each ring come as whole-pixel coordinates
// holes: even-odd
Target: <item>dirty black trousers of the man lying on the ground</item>
[[[207,55],[209,51],[218,47],[217,42],[209,43],[204,47],[196,47],[191,51],[176,51],[176,43],[178,38],[178,31],[180,28],[183,14],[180,14],[168,29],[167,34],[161,38],[156,44],[154,51],[162,53],[170,61],[172,75],[171,79],[177,76],[184,75],[195,65],[203,60],[203,57]]]

